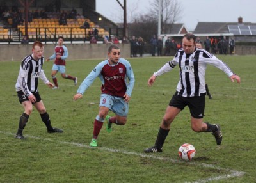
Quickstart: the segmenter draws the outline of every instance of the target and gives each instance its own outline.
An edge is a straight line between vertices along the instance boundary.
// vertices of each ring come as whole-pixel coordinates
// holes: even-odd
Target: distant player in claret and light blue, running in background
[[[65,60],[68,58],[68,49],[67,49],[67,47],[65,47],[65,45],[63,45],[63,42],[64,42],[63,36],[58,37],[58,45],[56,45],[56,47],[54,49],[54,54],[52,54],[51,57],[49,57],[45,60],[45,61],[49,61],[49,60],[55,59],[54,64],[52,66],[52,74],[51,74],[52,81],[55,86],[52,87],[52,89],[59,88],[57,77],[56,77],[56,74],[58,71],[61,73],[61,77],[63,77],[64,79],[73,80],[75,86],[77,84],[77,77],[70,76],[69,74],[66,74],[66,61]]]

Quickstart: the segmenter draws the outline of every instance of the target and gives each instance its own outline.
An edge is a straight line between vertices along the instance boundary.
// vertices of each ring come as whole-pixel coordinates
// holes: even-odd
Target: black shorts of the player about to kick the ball
[[[181,110],[188,106],[193,118],[204,118],[205,95],[198,97],[182,97],[175,93],[169,102],[169,106],[177,107]]]

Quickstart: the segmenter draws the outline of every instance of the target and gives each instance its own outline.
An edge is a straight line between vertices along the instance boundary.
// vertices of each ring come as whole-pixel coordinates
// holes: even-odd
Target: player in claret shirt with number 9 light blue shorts
[[[125,125],[128,114],[128,102],[134,86],[134,74],[129,61],[120,58],[120,49],[111,45],[108,49],[108,60],[100,62],[79,86],[73,100],[83,97],[84,92],[99,77],[102,82],[99,113],[94,120],[93,138],[90,146],[97,147],[97,139],[104,119],[107,119],[107,131],[111,132],[112,123]],[[129,81],[127,81],[127,79]],[[115,116],[108,116],[109,110]]]

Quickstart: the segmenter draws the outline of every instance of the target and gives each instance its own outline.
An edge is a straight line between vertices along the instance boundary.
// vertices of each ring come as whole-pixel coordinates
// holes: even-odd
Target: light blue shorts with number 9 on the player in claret
[[[127,116],[129,105],[122,97],[115,97],[108,94],[100,95],[100,105],[108,107],[113,113],[118,116]]]

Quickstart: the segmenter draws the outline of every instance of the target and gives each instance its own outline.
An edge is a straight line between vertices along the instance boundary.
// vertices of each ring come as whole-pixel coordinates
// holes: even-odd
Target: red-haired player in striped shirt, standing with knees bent
[[[20,65],[19,76],[15,88],[19,97],[19,102],[22,104],[25,111],[20,116],[18,132],[15,135],[15,138],[17,139],[25,139],[23,136],[23,129],[32,113],[33,106],[40,113],[41,119],[47,127],[47,132],[63,132],[61,129],[52,127],[50,117],[38,92],[39,78],[42,79],[49,88],[54,86],[47,79],[42,68],[44,65],[43,52],[44,45],[42,42],[35,41],[32,46],[32,54],[26,56]]]

